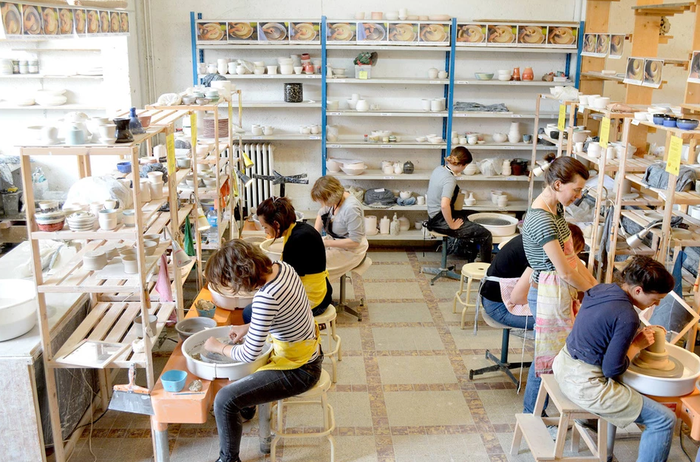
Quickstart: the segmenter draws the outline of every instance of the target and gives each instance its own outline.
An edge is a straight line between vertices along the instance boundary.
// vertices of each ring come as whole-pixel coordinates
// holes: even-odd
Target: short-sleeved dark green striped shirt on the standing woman
[[[559,240],[564,250],[564,243],[571,236],[569,226],[564,219],[564,206],[557,204],[557,214],[543,209],[530,208],[523,223],[523,247],[530,268],[533,269],[532,280],[539,282],[540,271],[554,271],[556,268],[547,256],[543,246]]]

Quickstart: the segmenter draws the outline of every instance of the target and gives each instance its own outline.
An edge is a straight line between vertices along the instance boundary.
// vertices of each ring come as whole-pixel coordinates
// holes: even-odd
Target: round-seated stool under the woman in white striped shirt
[[[300,395],[297,395],[293,398],[289,398],[286,400],[279,400],[277,403],[273,405],[273,411],[274,411],[274,406],[277,407],[277,419],[272,419],[272,429],[275,432],[275,437],[272,439],[271,447],[270,447],[270,460],[272,462],[275,462],[277,460],[275,458],[275,447],[277,446],[277,442],[280,440],[280,438],[318,438],[318,437],[326,437],[328,438],[328,441],[331,443],[331,462],[335,460],[335,440],[333,439],[333,430],[335,429],[335,416],[333,415],[333,407],[328,404],[328,389],[331,387],[331,378],[328,375],[328,372],[325,370],[321,371],[321,378],[318,379],[318,382],[316,385],[313,386],[309,391],[302,393]],[[306,400],[297,400],[296,398],[320,398],[319,401],[306,401]],[[283,433],[282,430],[287,430],[289,431],[290,429],[285,429],[284,428],[284,405],[292,405],[292,404],[320,404],[321,408],[323,409],[323,429],[320,432],[314,432],[314,433]],[[276,425],[274,424],[276,420]]]

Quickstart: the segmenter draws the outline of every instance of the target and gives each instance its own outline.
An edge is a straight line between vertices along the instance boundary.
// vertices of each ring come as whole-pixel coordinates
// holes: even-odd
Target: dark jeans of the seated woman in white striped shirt
[[[214,399],[221,462],[239,461],[243,424],[241,409],[269,403],[310,390],[321,377],[323,354],[300,368],[260,371],[222,388]]]

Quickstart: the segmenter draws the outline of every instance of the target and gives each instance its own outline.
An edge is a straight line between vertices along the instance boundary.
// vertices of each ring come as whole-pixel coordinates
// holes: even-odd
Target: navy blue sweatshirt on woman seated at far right
[[[627,350],[639,316],[627,294],[617,284],[599,284],[586,292],[566,348],[574,359],[600,366],[608,378],[629,367]]]

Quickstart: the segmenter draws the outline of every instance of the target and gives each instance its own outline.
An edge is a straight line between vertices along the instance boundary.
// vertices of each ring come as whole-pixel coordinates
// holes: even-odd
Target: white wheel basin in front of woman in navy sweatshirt
[[[644,395],[684,396],[695,389],[700,377],[700,358],[683,348],[666,344],[666,351],[683,364],[683,375],[676,379],[651,377],[627,369],[622,381]]]

